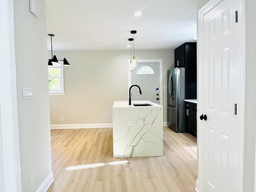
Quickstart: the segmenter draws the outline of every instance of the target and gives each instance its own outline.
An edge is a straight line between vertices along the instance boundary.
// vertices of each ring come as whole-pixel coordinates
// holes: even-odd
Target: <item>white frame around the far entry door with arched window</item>
[[[163,106],[163,60],[162,59],[138,59],[137,63],[158,63],[159,64],[159,93],[160,105]],[[128,88],[132,85],[132,73],[128,65]]]

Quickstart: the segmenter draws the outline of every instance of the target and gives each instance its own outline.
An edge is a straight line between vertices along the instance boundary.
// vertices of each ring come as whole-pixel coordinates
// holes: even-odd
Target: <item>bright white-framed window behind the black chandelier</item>
[[[48,67],[48,82],[50,95],[64,95],[63,61],[59,65]]]

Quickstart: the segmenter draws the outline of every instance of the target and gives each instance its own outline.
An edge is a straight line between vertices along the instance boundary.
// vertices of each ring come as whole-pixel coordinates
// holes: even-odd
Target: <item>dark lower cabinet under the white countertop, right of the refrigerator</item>
[[[185,130],[196,136],[196,103],[185,102]]]

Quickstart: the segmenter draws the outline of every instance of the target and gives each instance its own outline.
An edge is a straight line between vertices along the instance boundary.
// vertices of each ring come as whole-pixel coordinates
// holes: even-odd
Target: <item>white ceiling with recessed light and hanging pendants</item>
[[[168,50],[195,42],[196,0],[45,0],[53,50]],[[132,13],[142,11],[140,17]],[[50,36],[47,36],[51,50]]]

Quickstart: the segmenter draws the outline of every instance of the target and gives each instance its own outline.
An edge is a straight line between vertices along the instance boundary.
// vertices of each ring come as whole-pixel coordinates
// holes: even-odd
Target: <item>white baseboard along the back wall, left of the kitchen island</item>
[[[51,125],[51,129],[84,129],[84,128],[110,128],[110,127],[113,127],[112,123]]]

